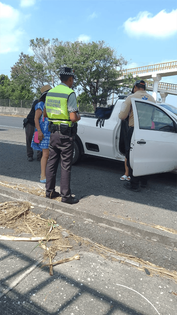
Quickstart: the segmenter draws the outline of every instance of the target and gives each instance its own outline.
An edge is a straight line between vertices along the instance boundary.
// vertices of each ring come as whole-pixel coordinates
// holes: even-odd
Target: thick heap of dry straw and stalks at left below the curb
[[[12,228],[15,233],[30,233],[32,238],[18,238],[14,236],[1,236],[1,239],[11,240],[29,240],[34,238],[39,241],[40,247],[44,249],[43,260],[53,259],[57,251],[66,251],[72,248],[70,240],[62,236],[65,231],[56,221],[43,219],[41,215],[31,212],[31,204],[28,202],[5,202],[0,205],[0,225]],[[70,238],[76,240],[75,236]],[[78,238],[77,242],[80,241]]]

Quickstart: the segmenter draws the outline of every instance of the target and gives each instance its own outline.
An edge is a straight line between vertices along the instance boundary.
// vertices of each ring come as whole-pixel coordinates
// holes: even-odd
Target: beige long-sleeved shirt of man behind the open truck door
[[[121,106],[121,111],[120,111],[118,117],[121,120],[123,120],[129,114],[129,123],[128,123],[129,127],[134,127],[134,115],[133,115],[133,108],[132,108],[132,102],[131,102],[132,97],[143,99],[143,100],[149,100],[150,102],[155,103],[154,98],[150,94],[148,94],[146,91],[136,91],[134,94],[128,95],[125,102],[123,102],[123,104]],[[151,117],[153,117],[153,113],[147,111],[146,112],[147,125],[150,124]]]

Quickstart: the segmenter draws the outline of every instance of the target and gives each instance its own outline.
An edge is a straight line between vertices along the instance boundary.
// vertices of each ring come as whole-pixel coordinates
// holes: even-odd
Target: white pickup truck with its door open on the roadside
[[[81,154],[89,154],[113,160],[125,159],[125,123],[119,118],[123,101],[116,101],[111,116],[101,126],[94,114],[80,113],[77,137],[74,143],[73,164]],[[147,106],[148,105],[148,106]],[[176,108],[168,104],[155,104],[146,100],[132,98],[134,112],[134,133],[130,164],[134,176],[176,171],[177,167],[177,114]],[[152,126],[139,123],[142,111],[155,107]],[[145,109],[146,107],[146,109]],[[168,109],[167,109],[168,108]],[[141,111],[141,115],[139,115]],[[128,127],[126,127],[128,128]]]

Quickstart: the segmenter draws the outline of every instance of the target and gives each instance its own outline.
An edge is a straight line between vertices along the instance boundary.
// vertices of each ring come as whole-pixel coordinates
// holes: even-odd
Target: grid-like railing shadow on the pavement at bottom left
[[[19,242],[13,242],[13,244],[14,247],[19,246]],[[35,247],[35,245],[32,246]],[[31,247],[31,245],[27,246]],[[8,271],[10,272],[10,274],[8,273],[6,278],[1,279],[1,292],[3,293],[3,291],[7,289],[7,286],[10,286],[10,284],[14,282],[15,278],[23,275],[23,273],[27,269],[36,264],[37,260],[34,257],[31,258],[31,255],[29,256],[25,253],[22,253],[22,251],[18,249],[11,248],[9,245],[6,246],[4,242],[0,243],[0,249],[2,253],[1,276],[3,274],[3,271],[6,271],[6,274],[8,273]],[[35,254],[33,254],[33,256],[34,255]],[[20,259],[20,263],[18,263],[19,266],[16,265],[17,268],[14,272],[11,268],[12,263],[8,262],[8,259],[12,256],[14,258],[18,257],[18,259]],[[15,264],[16,262],[17,260],[15,260]],[[25,266],[23,266],[24,264]],[[65,302],[61,302],[60,290],[61,288],[63,288],[63,286],[65,286],[65,284],[69,284],[69,291],[67,293],[66,291],[63,291],[63,293],[66,293],[66,295],[69,295],[70,297],[68,299],[66,298]],[[50,294],[51,292],[52,294]],[[84,300],[84,296],[87,296],[86,300],[88,301],[91,301],[91,298],[95,299],[94,304],[90,303],[89,305],[89,302],[86,302],[86,304],[88,304],[85,304],[83,306],[83,309],[85,307],[85,311],[86,309],[88,310],[90,308],[90,314],[92,312],[92,307],[93,313],[98,314],[97,312],[95,312],[95,310],[97,310],[98,306],[102,305],[103,307],[101,313],[104,315],[111,315],[113,312],[115,314],[115,311],[117,311],[116,314],[119,314],[119,312],[121,312],[121,314],[127,315],[142,315],[142,312],[139,312],[137,309],[125,305],[124,303],[119,301],[118,298],[114,299],[109,295],[98,292],[97,290],[91,288],[91,286],[89,287],[87,285],[84,285],[80,281],[76,281],[72,277],[68,277],[62,272],[57,272],[55,270],[54,276],[51,277],[49,276],[49,267],[45,267],[43,270],[41,270],[39,268],[39,265],[34,268],[31,273],[28,273],[26,277],[21,278],[21,281],[17,280],[16,285],[11,288],[6,295],[3,295],[0,298],[1,313],[3,315],[57,315],[64,311],[67,307],[71,306],[73,303],[75,305],[78,305],[80,308],[81,305],[79,305],[79,303],[80,300]],[[43,303],[45,305],[42,305],[41,302],[46,299],[48,300],[48,303]],[[63,296],[62,300],[64,300]],[[56,302],[58,302],[58,304],[61,303],[61,305],[56,305]],[[137,302],[137,305],[138,304],[139,303]],[[86,313],[88,314],[89,312]],[[66,314],[69,313],[66,312]],[[144,312],[143,315],[148,315],[148,313]]]

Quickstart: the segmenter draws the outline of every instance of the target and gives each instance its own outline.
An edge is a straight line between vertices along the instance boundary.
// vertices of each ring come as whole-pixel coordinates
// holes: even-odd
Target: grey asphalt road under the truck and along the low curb
[[[1,174],[0,180],[18,182],[26,186],[39,183],[40,163],[28,162],[26,157],[25,130],[22,117],[0,117],[1,128]],[[9,127],[5,127],[9,126]],[[19,128],[14,128],[19,127]],[[176,219],[176,175],[163,173],[150,175],[146,189],[129,192],[120,181],[124,174],[123,163],[94,157],[83,157],[73,165],[71,171],[71,191],[82,198],[73,209],[89,209],[91,214],[111,218],[131,219],[145,225],[159,225],[177,230]],[[40,183],[39,183],[40,184]],[[40,184],[44,189],[45,185]],[[57,173],[57,186],[60,185],[60,167]],[[113,200],[113,201],[112,201]],[[36,212],[41,209],[35,208]],[[55,216],[54,212],[50,212]],[[56,217],[55,217],[56,218]],[[129,255],[176,270],[176,249],[138,238],[135,234],[113,231],[94,223],[77,218],[75,224],[68,216],[58,215],[59,224],[82,237],[91,238],[96,243],[116,249]]]

